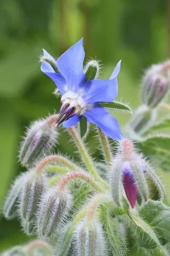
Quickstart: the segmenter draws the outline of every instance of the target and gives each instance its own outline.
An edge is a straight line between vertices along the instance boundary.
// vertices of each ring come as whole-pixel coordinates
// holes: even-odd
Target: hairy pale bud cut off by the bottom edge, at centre
[[[105,241],[101,224],[96,220],[82,221],[76,232],[78,256],[105,255]]]

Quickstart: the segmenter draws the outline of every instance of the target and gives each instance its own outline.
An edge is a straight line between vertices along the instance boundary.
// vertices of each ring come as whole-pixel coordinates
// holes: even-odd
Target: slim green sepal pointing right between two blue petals
[[[113,101],[113,102],[99,103],[99,105],[104,106],[105,108],[114,109],[115,111],[123,111],[125,113],[132,114],[132,110],[131,110],[130,106],[127,103]]]

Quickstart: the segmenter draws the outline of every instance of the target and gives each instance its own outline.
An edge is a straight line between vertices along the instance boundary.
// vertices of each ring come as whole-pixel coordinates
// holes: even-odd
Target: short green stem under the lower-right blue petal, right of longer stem
[[[102,130],[98,127],[98,133],[99,133],[99,138],[100,142],[102,144],[103,148],[103,155],[105,157],[105,161],[108,165],[110,165],[110,162],[112,160],[112,153],[110,150],[110,145],[107,136],[102,132]]]

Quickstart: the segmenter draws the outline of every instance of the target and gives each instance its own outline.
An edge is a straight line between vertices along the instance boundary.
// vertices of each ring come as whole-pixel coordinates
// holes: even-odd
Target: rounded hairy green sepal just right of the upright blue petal
[[[84,68],[84,72],[85,72],[87,81],[98,78],[99,74],[100,74],[99,61],[96,60],[96,59],[89,60],[86,63],[86,66]]]

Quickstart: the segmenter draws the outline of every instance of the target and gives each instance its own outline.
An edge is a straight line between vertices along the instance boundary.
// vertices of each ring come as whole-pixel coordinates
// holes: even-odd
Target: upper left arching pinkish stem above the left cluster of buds
[[[51,163],[51,162],[58,162],[60,164],[63,164],[66,166],[68,169],[75,170],[77,168],[76,164],[72,163],[65,157],[59,156],[59,155],[51,155],[47,156],[44,159],[42,159],[38,165],[36,166],[36,171],[40,172],[46,164]]]

